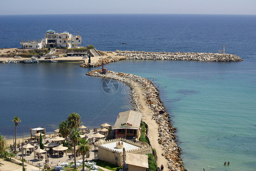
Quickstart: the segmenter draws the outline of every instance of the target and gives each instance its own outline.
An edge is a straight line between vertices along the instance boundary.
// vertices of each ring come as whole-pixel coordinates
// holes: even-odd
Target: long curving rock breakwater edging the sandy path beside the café
[[[170,171],[184,171],[185,169],[179,156],[180,148],[177,145],[177,141],[175,141],[176,136],[174,135],[174,132],[176,129],[170,123],[169,114],[165,111],[165,106],[159,97],[159,91],[154,84],[150,80],[142,78],[138,75],[118,73],[114,71],[109,71],[106,74],[102,74],[101,72],[102,70],[92,70],[88,72],[87,75],[105,77],[124,82],[131,89],[130,92],[134,111],[142,112],[135,89],[135,86],[139,86],[140,90],[142,90],[144,100],[154,113],[151,121],[156,122],[159,126],[158,142],[164,151],[160,155],[167,159],[167,165]]]

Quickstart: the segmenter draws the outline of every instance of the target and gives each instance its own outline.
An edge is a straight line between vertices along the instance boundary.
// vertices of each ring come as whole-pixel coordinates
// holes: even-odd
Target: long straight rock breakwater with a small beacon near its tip
[[[230,62],[242,61],[240,57],[232,54],[222,53],[198,53],[198,52],[144,52],[144,51],[120,51],[116,50],[117,56],[126,56],[127,59],[140,60],[200,60],[200,61],[216,61]]]

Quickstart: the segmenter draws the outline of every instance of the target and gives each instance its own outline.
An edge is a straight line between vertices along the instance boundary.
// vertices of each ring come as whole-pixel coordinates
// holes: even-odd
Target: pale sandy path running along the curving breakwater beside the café
[[[148,104],[144,100],[144,97],[142,95],[142,90],[139,88],[138,84],[135,83],[135,90],[137,93],[138,101],[142,107],[142,121],[144,121],[146,124],[148,124],[148,138],[150,140],[152,148],[154,148],[157,152],[157,166],[164,165],[164,170],[168,170],[167,166],[167,159],[165,159],[164,156],[162,156],[162,153],[164,150],[162,150],[162,146],[158,143],[158,124],[152,119],[153,111],[148,108]]]

